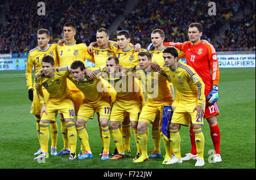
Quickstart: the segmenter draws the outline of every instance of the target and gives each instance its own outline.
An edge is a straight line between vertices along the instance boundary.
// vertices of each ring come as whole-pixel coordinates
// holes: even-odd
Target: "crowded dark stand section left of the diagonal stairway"
[[[46,2],[46,15],[39,16],[36,1],[12,0],[6,14],[7,24],[0,24],[0,53],[26,53],[36,46],[36,30],[47,28],[51,40],[61,38],[63,24],[74,22],[77,36],[89,43],[100,27],[108,28],[117,14],[122,14],[125,1],[64,1]],[[102,8],[103,7],[103,8]],[[51,43],[51,42],[50,42]]]

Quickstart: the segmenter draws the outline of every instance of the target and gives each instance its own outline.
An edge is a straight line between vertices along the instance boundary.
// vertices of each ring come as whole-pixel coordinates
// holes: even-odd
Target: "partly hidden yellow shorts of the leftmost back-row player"
[[[48,99],[49,99],[49,93],[48,93],[48,91],[46,89],[42,89],[42,91],[43,91],[44,101],[47,102]],[[32,101],[32,104],[31,104],[30,113],[40,116],[41,107],[42,107],[41,103],[38,100],[38,96],[36,95],[36,90],[34,88],[34,91],[33,91],[33,101]]]

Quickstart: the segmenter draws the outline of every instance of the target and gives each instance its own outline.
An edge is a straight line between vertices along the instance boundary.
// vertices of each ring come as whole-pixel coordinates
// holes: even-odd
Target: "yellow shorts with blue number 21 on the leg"
[[[193,112],[195,107],[195,103],[179,102],[172,114],[171,123],[188,126],[191,121],[192,124],[204,125],[204,117],[197,116],[196,111]]]

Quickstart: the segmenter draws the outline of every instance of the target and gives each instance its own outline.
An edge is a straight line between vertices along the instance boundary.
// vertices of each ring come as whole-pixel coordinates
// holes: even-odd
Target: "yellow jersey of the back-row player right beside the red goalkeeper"
[[[156,51],[155,49],[148,51],[151,54],[152,63],[156,62],[161,67],[164,65],[163,51],[166,48],[168,48],[168,47],[165,46],[163,49],[161,49],[159,51]],[[185,58],[186,57],[185,53],[183,51],[180,51],[180,49],[178,49],[176,47],[173,47],[173,48],[175,48],[177,50],[178,58]]]

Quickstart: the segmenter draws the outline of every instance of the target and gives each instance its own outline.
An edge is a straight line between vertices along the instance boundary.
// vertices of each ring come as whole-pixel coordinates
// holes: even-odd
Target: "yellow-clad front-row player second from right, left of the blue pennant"
[[[136,68],[136,74],[142,82],[143,91],[146,93],[146,102],[142,107],[138,123],[138,141],[142,155],[134,162],[143,162],[148,161],[146,129],[154,121],[158,121],[159,124],[159,119],[156,119],[156,115],[162,115],[163,106],[171,106],[173,97],[167,86],[167,75],[162,70],[152,72],[151,54],[147,51],[140,52],[138,59],[139,67],[137,66]],[[170,160],[171,146],[167,143],[164,143],[164,146],[166,155]],[[166,159],[164,159],[163,163],[165,161]]]

